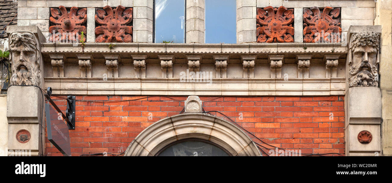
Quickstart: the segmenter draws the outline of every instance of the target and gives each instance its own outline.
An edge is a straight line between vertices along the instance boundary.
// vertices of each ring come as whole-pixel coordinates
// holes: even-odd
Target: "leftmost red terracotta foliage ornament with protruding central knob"
[[[86,33],[86,26],[83,24],[87,21],[87,8],[78,10],[77,7],[71,7],[68,12],[64,6],[59,6],[58,9],[51,8],[50,13],[49,20],[52,25],[54,24],[49,27],[49,32],[52,34],[49,37],[50,42],[77,43],[81,40],[80,33],[82,31],[83,34]]]

